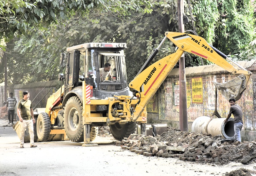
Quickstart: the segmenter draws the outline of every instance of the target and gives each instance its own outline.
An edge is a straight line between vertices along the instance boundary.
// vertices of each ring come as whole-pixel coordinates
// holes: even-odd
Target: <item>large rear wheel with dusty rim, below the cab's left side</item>
[[[84,141],[83,106],[77,96],[68,99],[64,110],[64,128],[72,142]]]

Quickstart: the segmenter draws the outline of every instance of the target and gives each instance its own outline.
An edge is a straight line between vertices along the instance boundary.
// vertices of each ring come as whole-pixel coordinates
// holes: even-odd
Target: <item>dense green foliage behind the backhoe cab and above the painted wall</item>
[[[114,0],[108,1],[111,2]],[[12,78],[13,82],[56,79],[58,73],[63,72],[63,68],[58,65],[60,52],[64,52],[67,47],[88,42],[127,43],[125,50],[127,77],[131,81],[153,49],[162,41],[164,33],[178,32],[175,15],[177,0],[159,0],[152,4],[147,4],[147,1],[116,1],[117,4],[125,4],[124,6],[111,6],[108,3],[105,3],[105,11],[100,8],[88,10],[87,15],[84,16],[74,10],[72,18],[55,20],[55,23],[45,27],[28,28],[26,35],[20,37],[15,47],[16,54],[19,54],[24,62],[22,59],[19,61],[15,55],[10,56],[17,61],[8,64],[8,68],[13,70],[10,76],[19,73],[17,78]],[[237,54],[235,57],[239,59],[244,60],[248,56],[252,59],[255,56],[255,41],[252,40],[255,31],[255,14],[253,16],[254,7],[250,1],[194,0],[191,3],[193,14],[196,16],[196,32],[200,36],[223,53]],[[89,4],[88,7],[95,7],[95,3]],[[116,11],[113,10],[115,7]],[[112,12],[109,11],[111,9]],[[186,2],[185,14],[190,17]],[[192,28],[191,23],[185,24],[185,30]],[[174,50],[172,42],[166,40],[154,61],[173,53]],[[18,62],[19,66],[16,67]],[[29,74],[26,72],[25,63],[33,68],[29,70]],[[210,63],[207,60],[203,60],[202,63],[201,58],[189,53],[185,54],[186,67],[202,64]],[[178,68],[179,65],[175,67]],[[25,69],[19,72],[19,68]],[[26,75],[27,80],[22,75]]]

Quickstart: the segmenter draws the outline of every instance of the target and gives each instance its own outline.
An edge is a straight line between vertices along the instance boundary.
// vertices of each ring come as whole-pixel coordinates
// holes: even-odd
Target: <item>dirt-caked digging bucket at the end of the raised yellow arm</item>
[[[239,100],[242,97],[244,90],[246,89],[246,80],[243,74],[225,83],[217,83],[214,81],[212,82],[223,95],[223,97],[227,100],[230,98]]]

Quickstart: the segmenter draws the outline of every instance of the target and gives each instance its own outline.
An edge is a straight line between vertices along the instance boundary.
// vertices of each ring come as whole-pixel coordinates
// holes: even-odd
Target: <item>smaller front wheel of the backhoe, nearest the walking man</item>
[[[42,112],[38,115],[36,121],[36,133],[37,133],[37,141],[45,142],[49,140],[51,132],[51,121],[50,117],[47,113]]]

